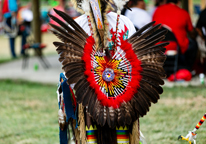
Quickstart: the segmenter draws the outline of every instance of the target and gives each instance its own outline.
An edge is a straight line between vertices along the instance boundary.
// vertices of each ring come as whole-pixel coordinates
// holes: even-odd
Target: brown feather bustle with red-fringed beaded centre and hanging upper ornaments
[[[86,113],[97,125],[109,129],[135,125],[151,103],[158,101],[165,77],[164,46],[168,43],[156,43],[164,39],[166,31],[151,35],[160,28],[151,22],[124,39],[125,33],[117,31],[125,2],[77,1],[76,6],[87,15],[91,36],[65,13],[55,10],[66,23],[50,15],[61,26],[51,24],[62,41],[54,45],[68,84],[75,83],[77,102],[87,107]],[[117,6],[118,14],[116,32],[109,38],[106,14],[111,4]],[[107,47],[108,41],[113,41],[113,49]]]

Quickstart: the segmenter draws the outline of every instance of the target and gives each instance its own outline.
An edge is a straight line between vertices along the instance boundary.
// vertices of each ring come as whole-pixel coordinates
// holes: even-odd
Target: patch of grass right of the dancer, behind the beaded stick
[[[186,136],[206,113],[206,89],[201,87],[164,88],[161,99],[140,119],[140,129],[149,144],[187,144]],[[206,124],[197,131],[197,143],[206,142]]]

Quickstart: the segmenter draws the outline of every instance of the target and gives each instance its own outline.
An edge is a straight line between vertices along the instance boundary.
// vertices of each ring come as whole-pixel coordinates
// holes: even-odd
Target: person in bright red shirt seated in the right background
[[[192,71],[197,53],[197,44],[193,40],[195,39],[195,30],[188,12],[178,6],[179,2],[180,0],[167,0],[167,4],[156,9],[152,20],[156,21],[155,24],[161,23],[174,33],[180,48],[179,65],[181,68]],[[188,34],[190,38],[188,38]]]

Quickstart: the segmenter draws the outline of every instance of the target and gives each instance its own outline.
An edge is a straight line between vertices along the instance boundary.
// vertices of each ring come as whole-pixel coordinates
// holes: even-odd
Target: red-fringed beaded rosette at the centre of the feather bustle
[[[82,60],[87,81],[103,106],[119,108],[122,102],[130,101],[137,92],[141,81],[141,62],[127,41],[121,40],[121,46],[111,52],[109,58],[96,49],[90,36]]]

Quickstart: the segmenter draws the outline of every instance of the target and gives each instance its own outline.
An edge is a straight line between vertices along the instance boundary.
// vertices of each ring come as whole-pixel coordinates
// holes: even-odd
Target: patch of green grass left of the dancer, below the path
[[[58,143],[56,86],[0,81],[0,144]]]

